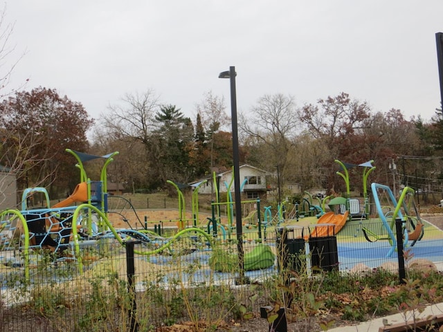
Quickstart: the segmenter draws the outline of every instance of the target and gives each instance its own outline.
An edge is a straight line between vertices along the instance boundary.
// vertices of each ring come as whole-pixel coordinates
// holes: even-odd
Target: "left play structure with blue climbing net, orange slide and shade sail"
[[[77,259],[80,255],[73,252],[73,243],[79,241],[79,234],[92,237],[93,232],[107,232],[107,165],[118,154],[114,152],[105,156],[92,156],[66,149],[78,161],[80,183],[73,193],[64,201],[51,207],[48,192],[45,188],[34,187],[24,190],[21,200],[21,211],[5,210],[0,214],[0,250],[13,252],[8,259],[23,265],[25,275],[29,277],[30,250],[33,252],[53,252],[55,259]],[[83,163],[96,158],[104,158],[105,163],[100,174],[100,181],[90,181],[84,171]],[[46,207],[29,210],[27,201],[31,195],[41,192],[46,199]],[[84,203],[70,206],[73,203]],[[98,212],[93,216],[92,212]],[[117,235],[117,234],[116,234]],[[74,244],[75,246],[75,244]],[[17,253],[22,252],[21,257]],[[69,254],[67,253],[69,252]]]

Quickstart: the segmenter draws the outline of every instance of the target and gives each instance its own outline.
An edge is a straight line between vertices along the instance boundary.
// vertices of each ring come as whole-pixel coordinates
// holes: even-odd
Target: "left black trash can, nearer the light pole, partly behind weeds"
[[[302,257],[305,255],[304,228],[288,226],[277,228],[277,264],[278,270],[300,272],[305,264]]]

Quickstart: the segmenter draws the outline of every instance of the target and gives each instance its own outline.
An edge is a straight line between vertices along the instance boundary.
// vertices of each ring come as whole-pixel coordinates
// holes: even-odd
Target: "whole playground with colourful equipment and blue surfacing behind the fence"
[[[0,289],[6,306],[35,299],[33,285],[74,291],[80,278],[98,279],[93,282],[108,289],[110,276],[121,278],[129,270],[136,275],[136,291],[147,293],[153,288],[264,283],[284,273],[397,273],[399,244],[406,268],[443,270],[443,216],[420,216],[409,187],[396,197],[386,185],[369,186],[372,161],[352,165],[336,160],[341,167],[337,175],[347,188],[343,196],[306,193],[301,201],[284,201],[275,211],[260,206],[260,199],[243,201],[238,243],[232,183],[225,184],[226,199],[221,202],[217,196],[211,212],[202,213],[198,188],[203,182],[191,188],[189,202],[183,187],[169,181],[177,190],[178,208],[143,214],[124,197],[107,193],[106,168],[117,152],[67,152],[80,170],[79,184],[70,196],[51,206],[45,188],[31,187],[24,191],[19,210],[0,213]],[[101,176],[91,181],[84,163],[98,158],[103,162]],[[363,198],[350,195],[350,167],[363,169]],[[44,206],[28,206],[36,195],[44,197]],[[123,203],[112,203],[116,199]],[[133,257],[127,256],[128,243],[134,246]],[[129,274],[127,278],[132,280]],[[17,286],[27,291],[17,293]],[[92,284],[81,288],[82,293],[93,294]]]

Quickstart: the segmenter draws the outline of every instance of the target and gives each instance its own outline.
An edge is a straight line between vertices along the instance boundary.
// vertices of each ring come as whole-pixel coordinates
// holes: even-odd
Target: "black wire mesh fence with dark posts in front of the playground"
[[[383,269],[401,280],[411,270],[443,270],[443,217],[426,219],[414,243],[392,241],[379,222],[348,223],[325,237],[301,225],[245,228],[240,256],[230,232],[150,243],[128,238],[126,248],[100,239],[83,243],[80,257],[31,253],[29,278],[21,252],[0,252],[0,332],[154,331],[181,321],[220,322],[258,313],[282,297],[277,285],[296,275]]]

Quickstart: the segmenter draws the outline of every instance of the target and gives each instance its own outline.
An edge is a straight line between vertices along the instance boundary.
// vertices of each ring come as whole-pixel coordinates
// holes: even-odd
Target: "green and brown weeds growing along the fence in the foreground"
[[[186,246],[197,251],[181,250]],[[234,246],[220,244],[219,250],[230,253]],[[138,331],[183,321],[195,331],[216,331],[223,322],[257,317],[260,306],[269,304],[284,308],[289,321],[304,322],[303,331],[327,330],[336,320],[358,322],[399,311],[405,320],[411,313],[418,317],[424,306],[443,297],[443,275],[434,270],[411,270],[406,283],[399,284],[397,275],[386,270],[343,274],[312,268],[309,257],[301,253],[291,257],[298,261],[280,265],[280,271],[270,277],[235,285],[235,278],[226,275],[236,276],[237,264],[224,264],[226,275],[221,280],[213,268],[217,262],[208,259],[204,248],[181,241],[172,255],[136,258]],[[83,275],[78,275],[75,262],[55,264],[46,252],[34,259],[38,266],[32,270],[31,284],[26,284],[22,273],[12,273],[19,270],[1,270],[3,288],[16,297],[15,303],[22,303],[10,307],[0,299],[1,322],[16,322],[26,330],[23,324],[28,323],[14,316],[23,312],[46,329],[34,331],[129,332],[134,295],[127,289],[124,257],[110,249],[105,249],[105,255],[100,247],[85,252],[102,258],[91,260]],[[275,319],[269,315],[269,322]]]

